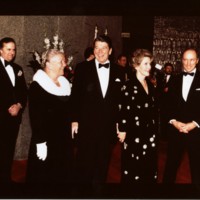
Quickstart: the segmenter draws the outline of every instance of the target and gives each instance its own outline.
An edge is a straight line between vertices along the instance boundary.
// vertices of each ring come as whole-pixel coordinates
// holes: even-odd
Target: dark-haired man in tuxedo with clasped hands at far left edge
[[[22,68],[13,62],[14,39],[0,40],[0,183],[11,182],[11,168],[27,86]]]

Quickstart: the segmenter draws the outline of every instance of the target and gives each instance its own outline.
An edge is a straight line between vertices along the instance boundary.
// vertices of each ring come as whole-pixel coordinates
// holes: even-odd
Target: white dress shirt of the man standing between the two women
[[[103,64],[106,64],[106,63],[110,63],[110,61],[107,60]],[[107,89],[108,89],[110,67],[109,68],[105,68],[105,67],[99,68],[99,62],[97,61],[97,59],[95,59],[95,64],[96,64],[97,74],[98,74],[98,77],[99,77],[102,95],[103,95],[103,97],[105,97]]]

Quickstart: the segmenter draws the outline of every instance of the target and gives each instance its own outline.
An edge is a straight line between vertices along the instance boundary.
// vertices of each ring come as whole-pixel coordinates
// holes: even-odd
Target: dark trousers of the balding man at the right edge
[[[183,134],[174,130],[169,133],[163,183],[175,183],[177,170],[185,150],[189,156],[192,183],[200,184],[200,133]]]

